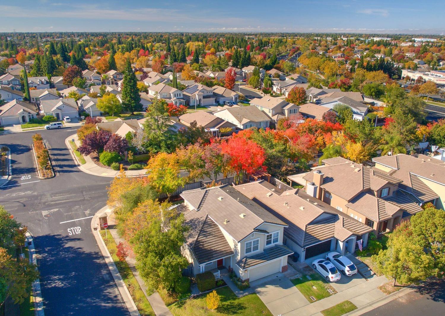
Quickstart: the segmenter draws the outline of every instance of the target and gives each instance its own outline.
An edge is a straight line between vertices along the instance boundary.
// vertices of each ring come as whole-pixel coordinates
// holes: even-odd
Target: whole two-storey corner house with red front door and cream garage
[[[190,274],[224,266],[252,282],[287,270],[293,252],[283,245],[285,222],[229,185],[180,195],[178,208],[190,227],[182,247]]]

